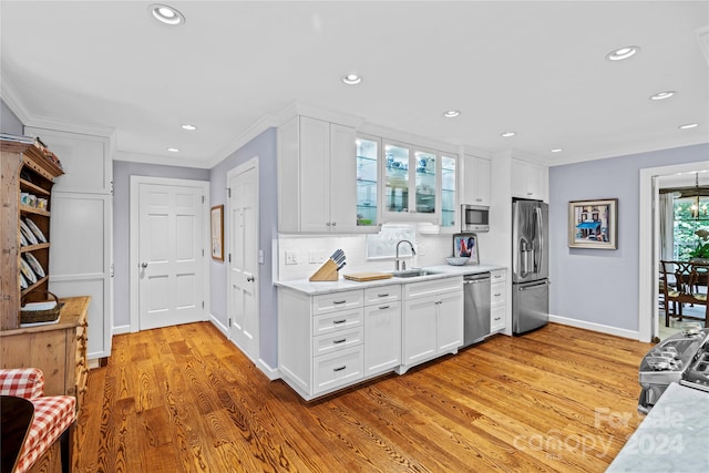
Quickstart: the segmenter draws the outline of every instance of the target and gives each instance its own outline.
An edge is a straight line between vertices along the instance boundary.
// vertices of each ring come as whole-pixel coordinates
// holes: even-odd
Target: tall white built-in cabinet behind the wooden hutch
[[[25,127],[61,158],[52,188],[49,289],[58,297],[91,296],[86,313],[90,360],[111,356],[113,336],[113,161],[110,140]],[[80,258],[76,255],[82,255]]]

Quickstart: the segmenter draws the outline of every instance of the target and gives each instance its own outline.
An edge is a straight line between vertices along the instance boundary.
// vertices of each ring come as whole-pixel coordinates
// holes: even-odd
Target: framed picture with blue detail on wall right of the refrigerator
[[[618,249],[618,199],[569,202],[568,247]]]

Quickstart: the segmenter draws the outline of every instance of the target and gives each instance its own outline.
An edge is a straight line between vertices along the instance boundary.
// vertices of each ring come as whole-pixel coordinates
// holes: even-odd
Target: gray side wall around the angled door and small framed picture
[[[271,368],[278,366],[278,315],[276,310],[276,287],[273,284],[274,240],[278,238],[278,193],[276,179],[276,128],[269,128],[248,142],[212,168],[210,206],[226,206],[226,175],[234,167],[251,157],[258,157],[258,193],[259,193],[259,249],[264,251],[264,264],[259,270],[258,304],[259,322],[259,358]],[[225,216],[226,218],[226,216]],[[228,228],[225,222],[224,228]],[[225,240],[228,235],[225,235]],[[212,315],[227,326],[227,263],[212,260]]]

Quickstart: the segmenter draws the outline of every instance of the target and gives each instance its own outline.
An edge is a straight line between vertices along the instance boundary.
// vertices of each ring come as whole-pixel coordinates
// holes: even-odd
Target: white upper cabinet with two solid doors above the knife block
[[[278,229],[363,233],[353,127],[296,116],[278,128]],[[374,196],[376,198],[376,196]]]

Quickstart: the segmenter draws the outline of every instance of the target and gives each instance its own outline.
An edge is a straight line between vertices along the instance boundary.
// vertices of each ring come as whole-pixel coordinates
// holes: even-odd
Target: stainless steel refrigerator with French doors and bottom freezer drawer
[[[549,320],[548,205],[512,199],[512,332]]]

